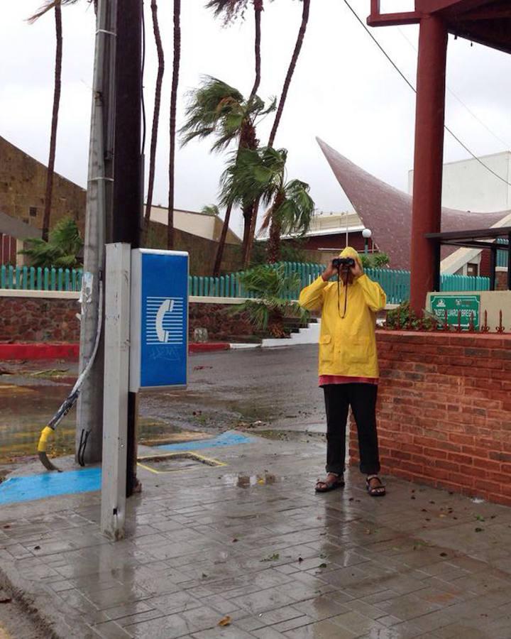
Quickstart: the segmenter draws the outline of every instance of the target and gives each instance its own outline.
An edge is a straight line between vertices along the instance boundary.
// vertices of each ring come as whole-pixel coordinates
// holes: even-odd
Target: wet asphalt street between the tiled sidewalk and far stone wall
[[[286,439],[297,420],[300,432],[322,432],[316,366],[317,348],[312,345],[191,355],[187,391],[141,393],[139,441],[172,444],[232,428]],[[1,366],[0,464],[35,453],[40,431],[76,376],[77,364],[63,361]],[[73,409],[50,438],[50,456],[74,452],[75,420]]]

